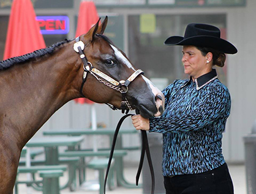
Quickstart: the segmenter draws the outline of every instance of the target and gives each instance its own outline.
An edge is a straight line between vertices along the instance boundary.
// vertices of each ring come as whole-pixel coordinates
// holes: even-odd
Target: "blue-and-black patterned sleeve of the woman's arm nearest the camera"
[[[186,132],[198,130],[218,119],[227,119],[230,114],[230,94],[220,85],[209,87],[197,107],[189,113],[173,117],[149,119],[149,132]]]

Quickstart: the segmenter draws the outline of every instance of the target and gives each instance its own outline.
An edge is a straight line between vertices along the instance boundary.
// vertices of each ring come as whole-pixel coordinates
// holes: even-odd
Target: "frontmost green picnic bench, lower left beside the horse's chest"
[[[63,171],[66,171],[65,165],[43,165],[32,167],[18,167],[17,179],[15,182],[15,194],[18,194],[18,184],[26,184],[28,187],[33,187],[36,190],[42,190],[43,194],[59,194],[59,177],[63,175]],[[43,178],[42,181],[28,180],[19,181],[18,174],[20,173],[39,173],[39,176]],[[39,184],[43,184],[39,187]]]

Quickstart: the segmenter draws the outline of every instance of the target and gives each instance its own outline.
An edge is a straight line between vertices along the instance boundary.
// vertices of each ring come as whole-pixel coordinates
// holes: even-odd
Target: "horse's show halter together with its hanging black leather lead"
[[[83,86],[85,85],[87,74],[91,73],[92,76],[96,77],[96,79],[100,83],[102,83],[104,85],[107,85],[108,87],[112,88],[113,90],[117,90],[117,91],[121,92],[121,94],[122,94],[122,101],[121,101],[122,113],[124,113],[125,110],[126,110],[126,115],[124,115],[119,120],[118,125],[116,126],[114,137],[113,137],[113,142],[112,142],[111,151],[110,151],[110,157],[109,157],[109,160],[108,160],[108,167],[107,167],[107,171],[106,171],[106,174],[105,174],[105,181],[104,181],[104,194],[105,194],[108,173],[109,173],[109,170],[110,170],[111,160],[113,159],[113,154],[114,154],[114,149],[115,149],[119,129],[121,128],[122,122],[127,117],[134,115],[134,114],[128,114],[129,110],[133,110],[132,106],[130,106],[129,101],[126,98],[126,93],[128,91],[128,85],[130,84],[130,82],[134,81],[134,79],[138,75],[143,74],[144,72],[142,70],[137,70],[126,81],[121,80],[121,81],[118,82],[115,79],[108,76],[107,74],[102,73],[102,71],[97,70],[97,68],[94,68],[92,66],[91,62],[88,62],[88,60],[85,56],[85,52],[83,51],[85,49],[85,43],[83,43],[83,41],[80,40],[80,37],[75,38],[75,44],[73,45],[73,49],[75,50],[75,52],[78,52],[80,54],[80,58],[83,61],[84,72],[83,72],[83,82],[82,82],[81,87],[80,87],[81,95],[85,97],[85,95],[83,95]],[[122,88],[126,88],[126,89],[123,90]],[[113,106],[111,104],[107,104],[107,105],[111,109],[117,110],[117,108],[115,106]],[[139,113],[138,109],[136,109],[135,111],[136,111],[137,114]],[[151,172],[151,182],[152,182],[151,194],[154,194],[155,178],[154,178],[154,169],[153,169],[152,160],[151,160],[150,151],[149,151],[148,136],[146,134],[146,131],[141,130],[141,156],[140,156],[140,163],[138,165],[138,170],[137,170],[137,175],[136,175],[136,185],[138,185],[138,181],[140,179],[140,173],[141,173],[141,170],[142,170],[145,153],[146,153],[146,156],[147,156],[147,159],[148,159],[149,170]]]

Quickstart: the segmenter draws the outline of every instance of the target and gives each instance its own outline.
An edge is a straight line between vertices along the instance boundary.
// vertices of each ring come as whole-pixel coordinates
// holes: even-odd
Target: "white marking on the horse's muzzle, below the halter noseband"
[[[159,88],[157,88],[148,78],[146,78],[145,76],[142,76],[143,79],[145,80],[146,83],[148,83],[149,87],[152,90],[152,93],[154,94],[154,96],[160,96],[160,98],[156,98],[156,107],[157,107],[157,113],[154,115],[155,117],[159,117],[160,115],[162,115],[163,111],[164,111],[164,107],[165,107],[165,96],[163,95],[163,93],[159,90]],[[160,109],[159,109],[160,108]],[[159,111],[160,110],[160,111]],[[161,111],[162,110],[162,111]]]

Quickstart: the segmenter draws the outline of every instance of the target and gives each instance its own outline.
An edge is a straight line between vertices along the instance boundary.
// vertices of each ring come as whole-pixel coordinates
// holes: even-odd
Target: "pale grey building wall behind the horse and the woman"
[[[78,13],[79,1],[74,1],[74,9],[36,9],[36,13],[66,13],[70,17],[69,38],[75,36],[74,15]],[[245,7],[205,7],[205,8],[168,8],[168,9],[98,9],[99,13],[106,15],[119,13],[124,15],[124,43],[125,52],[128,51],[127,40],[127,16],[138,13],[156,13],[170,15],[187,15],[198,13],[221,13],[227,15],[227,39],[238,48],[238,54],[227,56],[228,61],[228,84],[227,87],[232,95],[232,112],[228,118],[227,129],[224,133],[223,150],[225,159],[228,162],[244,162],[243,136],[248,134],[255,121],[256,108],[256,65],[255,43],[256,43],[256,1],[247,0]],[[1,12],[0,15],[9,14],[9,10]],[[127,53],[129,56],[129,53]],[[121,118],[121,113],[110,110],[105,105],[96,105],[97,121],[104,123],[107,127],[115,129],[116,123]],[[52,129],[77,129],[88,128],[91,122],[91,107],[89,105],[75,104],[68,102],[64,107],[45,123],[36,136],[42,136],[42,132]],[[124,128],[132,127],[130,118],[124,122]],[[84,146],[92,145],[92,138],[85,137]],[[98,138],[100,146],[107,145],[107,138]],[[139,135],[126,135],[125,145],[139,145]],[[135,151],[129,154],[128,161],[137,161],[140,152]]]

